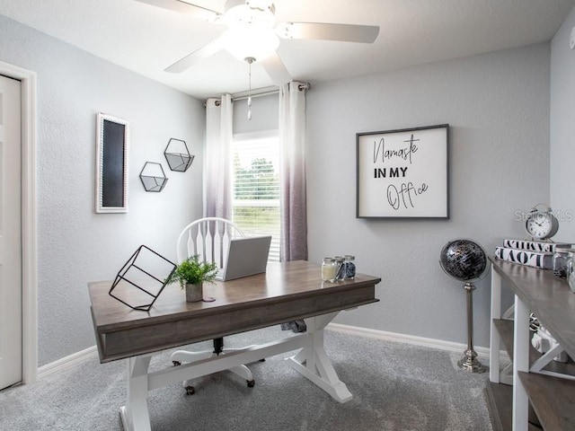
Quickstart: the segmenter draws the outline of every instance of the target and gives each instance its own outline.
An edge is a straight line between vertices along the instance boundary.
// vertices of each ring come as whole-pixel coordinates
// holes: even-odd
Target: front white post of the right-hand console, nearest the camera
[[[529,310],[515,295],[513,337],[513,431],[527,431],[528,400],[519,371],[529,371]]]

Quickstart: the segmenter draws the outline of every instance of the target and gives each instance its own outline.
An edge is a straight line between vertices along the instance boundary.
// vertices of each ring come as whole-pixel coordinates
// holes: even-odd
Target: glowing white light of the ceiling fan
[[[233,27],[222,34],[224,48],[240,61],[254,58],[263,60],[279,47],[279,37],[272,29],[251,26]]]

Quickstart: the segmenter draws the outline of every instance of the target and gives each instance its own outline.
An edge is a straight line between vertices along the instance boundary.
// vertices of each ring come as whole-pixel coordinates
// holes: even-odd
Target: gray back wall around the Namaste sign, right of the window
[[[525,236],[516,212],[549,200],[548,44],[314,84],[307,95],[310,260],[353,254],[382,277],[380,302],[339,322],[466,342],[463,285],[438,265],[452,239],[489,253]],[[357,132],[448,123],[449,220],[357,219]],[[475,345],[489,346],[489,277],[474,294]]]

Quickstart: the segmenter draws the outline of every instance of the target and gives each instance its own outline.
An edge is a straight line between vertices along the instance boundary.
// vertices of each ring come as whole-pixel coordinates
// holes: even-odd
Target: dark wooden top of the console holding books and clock
[[[490,257],[493,269],[534,312],[571,357],[575,357],[575,294],[567,280],[549,269],[527,267]]]

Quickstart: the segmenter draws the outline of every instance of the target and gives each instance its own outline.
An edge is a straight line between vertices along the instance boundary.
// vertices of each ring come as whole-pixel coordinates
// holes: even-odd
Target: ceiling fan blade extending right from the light
[[[331,24],[323,22],[280,22],[279,37],[285,39],[340,40],[372,43],[377,39],[376,25]]]

